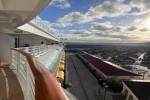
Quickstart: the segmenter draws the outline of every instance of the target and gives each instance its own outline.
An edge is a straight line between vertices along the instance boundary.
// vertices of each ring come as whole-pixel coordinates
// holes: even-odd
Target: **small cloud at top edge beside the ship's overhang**
[[[60,9],[71,7],[71,4],[67,0],[52,0],[52,2],[49,5],[54,5]]]

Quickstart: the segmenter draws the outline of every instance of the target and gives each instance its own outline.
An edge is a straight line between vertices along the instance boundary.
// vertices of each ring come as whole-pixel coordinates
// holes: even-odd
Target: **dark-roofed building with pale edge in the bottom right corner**
[[[126,100],[150,100],[150,81],[124,81],[122,94]]]

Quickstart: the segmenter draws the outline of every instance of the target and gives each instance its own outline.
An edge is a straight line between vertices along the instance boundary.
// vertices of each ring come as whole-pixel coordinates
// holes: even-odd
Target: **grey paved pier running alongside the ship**
[[[103,100],[103,90],[95,76],[77,58],[74,53],[66,53],[68,83],[72,86],[68,89],[79,100]],[[112,100],[111,95],[106,93],[106,100]]]

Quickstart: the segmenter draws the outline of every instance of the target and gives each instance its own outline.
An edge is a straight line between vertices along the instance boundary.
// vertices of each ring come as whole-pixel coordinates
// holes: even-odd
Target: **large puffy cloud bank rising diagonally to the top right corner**
[[[134,8],[139,9],[139,11],[133,10]],[[129,4],[124,3],[124,0],[107,0],[98,6],[90,7],[87,12],[73,11],[64,15],[57,20],[57,26],[68,27],[75,24],[85,24],[104,17],[111,19],[113,17],[122,17],[125,15],[144,15],[148,12],[150,12],[149,0],[132,0]]]

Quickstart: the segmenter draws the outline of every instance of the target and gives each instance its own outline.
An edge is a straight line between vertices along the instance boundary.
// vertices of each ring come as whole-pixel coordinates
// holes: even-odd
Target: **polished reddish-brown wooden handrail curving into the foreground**
[[[35,100],[68,100],[58,81],[36,58],[22,50],[12,49],[26,57],[35,77]]]

